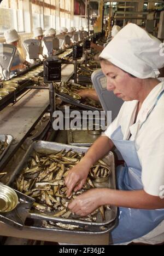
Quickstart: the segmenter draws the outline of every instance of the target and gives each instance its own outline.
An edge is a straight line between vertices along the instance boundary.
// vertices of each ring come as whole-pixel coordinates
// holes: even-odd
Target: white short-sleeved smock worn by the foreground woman
[[[164,185],[164,95],[161,96],[158,104],[151,112],[150,118],[139,129],[139,124],[145,120],[149,111],[153,107],[157,95],[164,89],[164,82],[160,82],[151,90],[144,100],[138,113],[136,123],[134,123],[135,112],[138,101],[126,101],[112,124],[103,135],[110,136],[119,126],[121,126],[124,140],[131,134],[130,140],[135,140],[137,154],[142,166],[142,183],[145,192],[153,196],[160,196],[161,186]],[[134,123],[134,124],[133,124]],[[155,229],[143,237],[133,240],[142,243],[161,243],[164,241],[164,221]],[[130,243],[130,242],[128,242]],[[127,243],[126,243],[127,244]]]

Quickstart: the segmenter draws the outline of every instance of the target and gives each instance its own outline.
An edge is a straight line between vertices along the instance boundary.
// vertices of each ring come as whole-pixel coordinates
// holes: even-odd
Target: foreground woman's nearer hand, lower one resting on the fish
[[[101,206],[101,189],[91,189],[77,196],[68,208],[77,215],[86,216]]]

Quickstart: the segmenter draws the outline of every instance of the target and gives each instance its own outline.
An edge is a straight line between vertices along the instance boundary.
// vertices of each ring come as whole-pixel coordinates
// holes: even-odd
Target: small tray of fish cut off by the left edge
[[[0,161],[4,157],[5,153],[7,153],[13,139],[13,136],[9,134],[0,134]]]

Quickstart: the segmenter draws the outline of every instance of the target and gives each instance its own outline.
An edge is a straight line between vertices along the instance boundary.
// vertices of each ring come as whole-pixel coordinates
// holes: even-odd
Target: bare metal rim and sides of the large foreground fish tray
[[[17,174],[19,174],[26,166],[27,166],[27,162],[28,159],[30,158],[30,156],[33,155],[34,151],[37,152],[46,152],[46,153],[50,153],[50,152],[56,152],[56,151],[60,151],[62,149],[66,149],[66,151],[72,149],[74,151],[77,151],[79,153],[82,152],[86,152],[87,151],[87,147],[78,147],[78,146],[74,146],[74,145],[66,145],[66,144],[61,144],[61,143],[51,143],[48,141],[36,141],[33,144],[31,144],[31,146],[28,148],[24,158],[22,158],[22,161],[20,162],[19,166],[17,166],[17,168],[14,170],[14,172],[11,174],[11,176],[9,177],[8,183],[7,185],[11,185],[13,181],[15,180],[15,177]],[[104,158],[104,161],[108,164],[108,166],[110,166],[110,168],[112,169],[112,174],[109,177],[108,182],[106,183],[94,183],[96,187],[110,187],[112,189],[116,188],[116,182],[115,182],[115,164],[114,164],[114,155],[113,153],[110,151],[109,154]],[[97,222],[93,223],[93,222],[89,222],[89,221],[82,221],[82,220],[78,220],[78,219],[64,219],[64,218],[60,218],[60,217],[52,217],[50,215],[45,215],[45,214],[40,214],[40,213],[31,213],[31,217],[33,216],[34,219],[39,218],[42,220],[51,220],[51,221],[55,221],[55,222],[60,222],[60,223],[67,223],[67,224],[73,224],[73,225],[80,225],[80,226],[95,226],[99,229],[99,226],[104,226],[104,225],[109,225],[110,223],[112,223],[116,217],[117,217],[117,207],[112,206],[111,210],[106,211],[106,220],[101,221],[101,214],[98,213],[97,214]],[[101,221],[101,222],[98,222]]]

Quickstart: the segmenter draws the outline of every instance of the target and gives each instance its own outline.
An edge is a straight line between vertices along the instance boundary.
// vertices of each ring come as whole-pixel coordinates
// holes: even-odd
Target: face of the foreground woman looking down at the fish
[[[101,67],[107,77],[107,90],[112,90],[117,97],[125,101],[139,99],[139,92],[142,89],[141,79],[133,78],[119,67],[105,61],[101,61]]]

